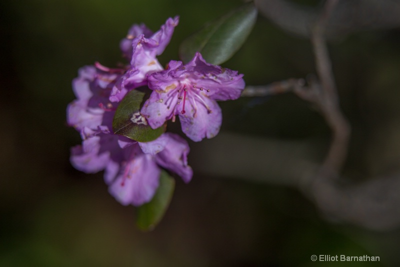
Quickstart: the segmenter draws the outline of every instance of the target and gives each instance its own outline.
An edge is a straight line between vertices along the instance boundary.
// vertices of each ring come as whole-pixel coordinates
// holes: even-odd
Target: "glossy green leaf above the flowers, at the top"
[[[208,63],[220,65],[243,45],[256,18],[252,3],[241,6],[184,40],[179,47],[180,59],[187,63],[200,52]]]

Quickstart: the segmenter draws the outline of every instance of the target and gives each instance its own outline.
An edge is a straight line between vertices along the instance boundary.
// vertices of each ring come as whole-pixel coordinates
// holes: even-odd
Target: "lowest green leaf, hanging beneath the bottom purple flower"
[[[150,202],[137,208],[136,225],[143,231],[152,230],[163,217],[171,201],[175,180],[162,170],[159,187]]]

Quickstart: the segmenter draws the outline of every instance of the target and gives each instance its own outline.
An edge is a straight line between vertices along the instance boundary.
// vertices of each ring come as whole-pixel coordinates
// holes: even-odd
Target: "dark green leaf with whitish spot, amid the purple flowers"
[[[151,129],[140,115],[140,104],[143,102],[144,95],[143,92],[132,90],[122,99],[112,120],[112,130],[115,134],[139,142],[148,142],[156,139],[165,131],[164,126]]]

